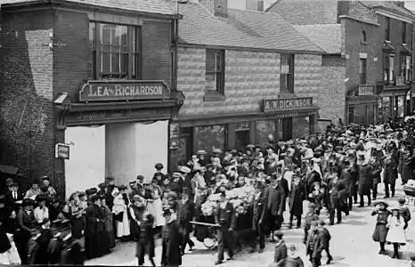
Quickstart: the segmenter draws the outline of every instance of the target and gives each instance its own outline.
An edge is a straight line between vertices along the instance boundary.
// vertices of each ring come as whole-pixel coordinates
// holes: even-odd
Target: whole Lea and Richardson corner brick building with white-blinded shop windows
[[[167,166],[168,121],[183,103],[175,10],[165,0],[6,3],[1,164],[49,175],[67,194]]]

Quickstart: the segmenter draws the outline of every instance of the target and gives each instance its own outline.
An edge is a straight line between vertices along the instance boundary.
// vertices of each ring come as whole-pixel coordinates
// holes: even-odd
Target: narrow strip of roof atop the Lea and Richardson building
[[[41,2],[37,0],[0,0],[0,4],[23,4]],[[174,15],[175,9],[166,0],[61,0],[61,2],[76,4],[91,4],[95,6],[118,8],[127,11],[148,12],[155,14]]]

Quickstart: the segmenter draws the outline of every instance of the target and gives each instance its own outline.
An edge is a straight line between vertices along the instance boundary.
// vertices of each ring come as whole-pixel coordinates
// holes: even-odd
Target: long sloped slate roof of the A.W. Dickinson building
[[[180,4],[180,14],[183,43],[323,53],[275,13],[228,9],[228,18],[219,18],[202,4]]]

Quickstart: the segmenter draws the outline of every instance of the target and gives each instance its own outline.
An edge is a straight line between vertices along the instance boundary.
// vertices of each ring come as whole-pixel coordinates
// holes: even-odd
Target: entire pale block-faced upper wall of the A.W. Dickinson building
[[[225,100],[204,101],[205,61],[205,49],[179,49],[177,84],[186,96],[179,117],[259,112],[263,99],[275,99],[280,94],[280,54],[227,50]],[[324,109],[320,95],[321,55],[296,54],[294,73],[295,95],[312,96],[313,102]]]

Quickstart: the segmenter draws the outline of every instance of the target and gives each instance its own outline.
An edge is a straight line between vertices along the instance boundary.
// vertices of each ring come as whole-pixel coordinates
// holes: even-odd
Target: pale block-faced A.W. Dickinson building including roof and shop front
[[[180,13],[177,86],[185,100],[172,122],[172,162],[313,131],[327,112],[320,47],[277,14],[226,1],[189,1]]]

